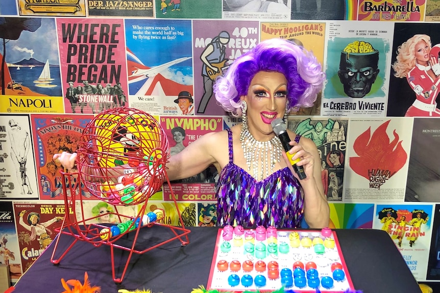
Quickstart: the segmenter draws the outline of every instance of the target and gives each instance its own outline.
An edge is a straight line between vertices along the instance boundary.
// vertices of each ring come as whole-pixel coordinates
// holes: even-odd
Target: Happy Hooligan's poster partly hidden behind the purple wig
[[[311,51],[317,61],[323,66],[326,31],[325,22],[262,22],[260,31],[261,41],[272,38],[292,41]],[[321,98],[322,93],[319,93],[313,106],[310,108],[301,108],[298,111],[291,111],[289,115],[319,116],[321,113]]]

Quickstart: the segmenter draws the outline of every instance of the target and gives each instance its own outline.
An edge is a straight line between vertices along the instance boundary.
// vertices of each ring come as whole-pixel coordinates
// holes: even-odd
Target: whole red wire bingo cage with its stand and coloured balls
[[[165,165],[169,158],[168,140],[158,121],[151,115],[132,108],[110,109],[97,115],[85,127],[77,151],[77,173],[61,173],[66,216],[58,231],[51,261],[59,264],[68,251],[78,241],[86,241],[94,246],[108,245],[111,248],[113,280],[123,281],[133,253],[142,254],[156,247],[179,239],[181,245],[189,243],[186,229],[171,188]],[[148,199],[160,190],[166,181],[179,215],[180,226],[160,223],[165,211],[156,209],[145,214]],[[84,195],[96,197],[110,204],[112,211],[94,217],[84,214]],[[123,215],[118,207],[138,205],[136,216]],[[71,214],[73,213],[73,215]],[[119,223],[100,223],[100,217],[112,214]],[[122,219],[129,219],[123,221]],[[98,222],[98,223],[96,223]],[[171,229],[174,235],[162,242],[138,248],[136,241],[142,228],[162,226]],[[133,233],[129,244],[120,239]],[[71,245],[59,248],[64,235],[74,237]],[[126,240],[128,237],[125,237]],[[162,240],[162,239],[161,239]],[[114,249],[129,252],[120,276],[115,273]],[[61,251],[61,252],[60,252]]]

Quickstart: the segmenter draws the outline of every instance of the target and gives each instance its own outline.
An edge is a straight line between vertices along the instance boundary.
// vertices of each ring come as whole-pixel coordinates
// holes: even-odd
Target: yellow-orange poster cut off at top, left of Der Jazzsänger
[[[86,16],[86,0],[18,0],[20,15]]]

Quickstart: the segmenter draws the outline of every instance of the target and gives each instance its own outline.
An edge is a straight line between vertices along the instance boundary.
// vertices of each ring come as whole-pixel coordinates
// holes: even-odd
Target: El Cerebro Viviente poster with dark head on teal
[[[327,32],[321,115],[385,116],[393,23],[334,21]]]

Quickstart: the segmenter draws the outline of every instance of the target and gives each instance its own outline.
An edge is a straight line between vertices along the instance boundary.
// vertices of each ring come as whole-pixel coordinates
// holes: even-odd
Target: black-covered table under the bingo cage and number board
[[[175,240],[144,254],[133,255],[121,284],[113,282],[108,246],[96,248],[90,243],[78,242],[60,264],[54,265],[50,261],[54,241],[18,280],[14,293],[60,293],[64,291],[61,278],[83,282],[84,272],[87,272],[90,284],[101,286],[103,293],[144,288],[155,293],[189,293],[192,288],[206,286],[208,282],[218,228],[189,229],[190,243],[185,247]],[[363,293],[421,292],[399,250],[385,231],[335,229],[335,232],[357,290],[363,290]],[[127,237],[132,234],[130,232]],[[137,243],[148,245],[162,241],[163,237],[172,237],[169,228],[145,227],[140,230]],[[70,235],[62,235],[59,247],[67,247],[72,239]],[[127,251],[116,249],[116,263],[120,261],[125,264],[127,255]]]

